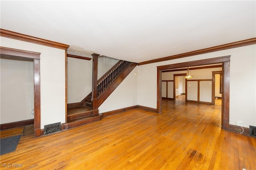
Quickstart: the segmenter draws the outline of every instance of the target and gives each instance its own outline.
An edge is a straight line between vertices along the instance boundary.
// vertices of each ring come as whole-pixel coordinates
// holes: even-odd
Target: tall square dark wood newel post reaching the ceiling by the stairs
[[[92,55],[92,110],[93,115],[98,115],[97,78],[98,78],[98,57],[100,54]],[[94,111],[96,110],[96,111]]]

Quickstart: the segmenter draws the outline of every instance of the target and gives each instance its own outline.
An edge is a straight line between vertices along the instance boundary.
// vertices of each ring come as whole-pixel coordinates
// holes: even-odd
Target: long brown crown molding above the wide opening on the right
[[[160,62],[160,61],[167,61],[167,60],[178,59],[178,58],[183,58],[183,57],[190,57],[190,56],[193,56],[193,55],[211,53],[211,52],[214,52],[214,51],[221,51],[221,50],[224,50],[224,49],[231,49],[231,48],[242,47],[242,46],[252,45],[252,44],[256,44],[256,38],[250,38],[248,40],[242,40],[242,41],[238,41],[238,42],[227,43],[227,44],[218,45],[218,46],[214,46],[214,47],[209,47],[209,48],[205,48],[205,49],[199,49],[199,50],[196,50],[196,51],[190,51],[190,52],[182,53],[182,54],[178,54],[178,55],[171,55],[171,56],[168,56],[168,57],[152,59],[152,60],[149,60],[149,61],[143,61],[143,62],[138,63],[138,65],[156,63],[156,62]]]

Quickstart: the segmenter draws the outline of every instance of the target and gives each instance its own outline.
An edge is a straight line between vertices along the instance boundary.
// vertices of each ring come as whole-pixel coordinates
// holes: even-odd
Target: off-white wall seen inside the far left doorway
[[[1,123],[34,119],[34,63],[0,59]]]

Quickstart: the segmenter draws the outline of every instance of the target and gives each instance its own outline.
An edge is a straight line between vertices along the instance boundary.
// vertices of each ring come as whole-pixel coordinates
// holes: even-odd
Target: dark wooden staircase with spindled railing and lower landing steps
[[[98,107],[118,87],[127,75],[136,67],[136,63],[120,60],[97,81]],[[99,121],[101,114],[93,115],[92,93],[81,102],[68,104],[67,123],[64,128],[74,128],[90,122]],[[98,112],[98,109],[97,109]]]

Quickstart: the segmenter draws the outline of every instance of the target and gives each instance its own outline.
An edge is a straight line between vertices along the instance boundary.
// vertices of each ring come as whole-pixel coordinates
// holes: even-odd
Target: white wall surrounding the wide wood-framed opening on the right
[[[231,55],[230,124],[256,125],[256,45],[138,66],[138,105],[156,108],[157,66]],[[193,73],[192,73],[193,74]],[[196,77],[194,77],[197,79]],[[245,83],[246,82],[246,83]]]

